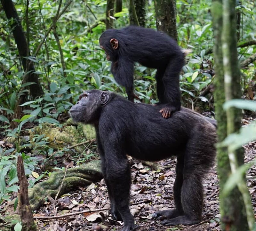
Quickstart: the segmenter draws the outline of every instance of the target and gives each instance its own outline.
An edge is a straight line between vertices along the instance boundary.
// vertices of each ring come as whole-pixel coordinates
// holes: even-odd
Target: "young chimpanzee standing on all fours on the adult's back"
[[[150,28],[129,26],[108,29],[100,36],[100,47],[107,60],[112,61],[111,72],[118,84],[125,87],[128,99],[138,98],[133,92],[134,62],[156,68],[156,90],[160,112],[164,118],[180,110],[180,70],[185,53],[176,41],[163,32]]]

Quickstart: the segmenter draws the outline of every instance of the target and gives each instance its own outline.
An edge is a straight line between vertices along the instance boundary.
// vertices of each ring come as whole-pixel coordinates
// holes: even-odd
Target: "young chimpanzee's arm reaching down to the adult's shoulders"
[[[119,58],[111,63],[111,72],[118,84],[125,87],[128,100],[139,99],[133,92],[134,62],[128,59]]]

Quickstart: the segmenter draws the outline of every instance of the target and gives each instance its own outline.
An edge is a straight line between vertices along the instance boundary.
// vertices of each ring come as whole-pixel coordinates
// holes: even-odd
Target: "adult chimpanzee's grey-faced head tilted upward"
[[[75,122],[98,123],[100,112],[111,99],[110,92],[100,90],[85,91],[79,96],[79,101],[69,110]]]

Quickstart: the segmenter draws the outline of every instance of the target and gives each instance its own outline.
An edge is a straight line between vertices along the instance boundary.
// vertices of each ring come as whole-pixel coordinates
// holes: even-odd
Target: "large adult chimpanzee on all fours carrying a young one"
[[[70,114],[76,122],[95,126],[112,218],[124,221],[123,231],[136,229],[129,210],[131,175],[126,154],[149,161],[176,155],[176,208],[156,211],[154,217],[164,219],[164,225],[198,223],[202,179],[215,157],[215,126],[188,108],[165,120],[159,113],[161,105],[135,104],[112,92],[90,90],[79,99]]]

